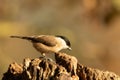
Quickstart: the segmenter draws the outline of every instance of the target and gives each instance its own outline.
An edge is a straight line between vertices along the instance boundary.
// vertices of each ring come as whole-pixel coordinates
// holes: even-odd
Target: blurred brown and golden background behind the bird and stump
[[[10,63],[41,56],[9,36],[40,34],[68,37],[66,52],[81,64],[120,75],[120,0],[0,0],[0,77]]]

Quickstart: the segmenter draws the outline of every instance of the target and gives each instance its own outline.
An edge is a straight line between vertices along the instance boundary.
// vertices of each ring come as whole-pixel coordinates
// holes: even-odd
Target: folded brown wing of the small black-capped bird
[[[54,36],[34,36],[33,42],[40,42],[47,46],[55,46],[56,45],[56,39]]]

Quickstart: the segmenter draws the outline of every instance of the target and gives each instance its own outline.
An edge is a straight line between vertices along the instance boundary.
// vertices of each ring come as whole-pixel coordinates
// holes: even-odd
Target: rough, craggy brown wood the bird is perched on
[[[43,57],[12,63],[2,80],[120,80],[120,76],[83,66],[74,56],[55,53],[56,62]]]

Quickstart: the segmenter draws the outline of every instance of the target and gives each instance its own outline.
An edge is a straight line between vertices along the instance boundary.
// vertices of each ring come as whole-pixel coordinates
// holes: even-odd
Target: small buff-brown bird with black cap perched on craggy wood
[[[33,47],[43,56],[47,53],[57,53],[62,49],[71,50],[70,41],[64,36],[39,35],[39,36],[10,36],[11,38],[26,39],[32,42]]]

